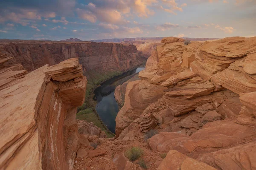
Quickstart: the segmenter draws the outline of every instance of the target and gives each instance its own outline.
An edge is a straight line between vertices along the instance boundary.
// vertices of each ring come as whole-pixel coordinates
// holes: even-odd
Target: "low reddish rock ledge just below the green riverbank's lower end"
[[[84,134],[84,135],[96,135],[99,138],[106,138],[107,135],[104,131],[102,131],[99,127],[97,127],[96,125],[93,124],[93,122],[88,123],[85,120],[76,120],[77,124],[78,124],[78,132],[80,134]]]

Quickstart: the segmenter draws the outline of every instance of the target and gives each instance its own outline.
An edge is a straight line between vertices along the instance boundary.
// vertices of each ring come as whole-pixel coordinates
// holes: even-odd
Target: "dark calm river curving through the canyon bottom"
[[[115,89],[119,84],[126,82],[131,75],[136,75],[140,71],[144,70],[145,67],[139,67],[132,71],[125,72],[119,76],[113,77],[112,79],[103,82],[94,91],[94,100],[97,101],[95,110],[99,114],[103,123],[108,129],[115,133],[116,131],[116,115],[119,112],[118,104],[115,100]]]

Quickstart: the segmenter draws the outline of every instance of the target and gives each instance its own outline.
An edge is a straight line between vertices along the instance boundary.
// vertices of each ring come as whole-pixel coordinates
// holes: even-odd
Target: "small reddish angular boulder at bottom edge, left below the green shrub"
[[[131,163],[123,153],[117,155],[113,162],[117,170],[137,170],[136,165]]]

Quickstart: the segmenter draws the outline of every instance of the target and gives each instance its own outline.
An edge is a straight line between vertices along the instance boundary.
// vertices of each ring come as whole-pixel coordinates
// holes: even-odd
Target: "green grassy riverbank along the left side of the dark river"
[[[145,66],[145,63],[138,67]],[[136,68],[134,68],[136,69]],[[95,101],[94,98],[94,91],[96,88],[101,86],[104,82],[108,81],[109,79],[120,76],[124,73],[121,71],[116,72],[109,72],[105,75],[98,75],[97,79],[88,79],[87,83],[87,90],[86,90],[86,98],[84,101],[84,104],[78,108],[78,113],[76,114],[76,119],[86,120],[87,122],[93,122],[94,125],[100,127],[103,131],[105,131],[108,138],[114,137],[115,134],[112,133],[102,122],[102,120],[99,117],[99,114],[95,110],[97,101]]]

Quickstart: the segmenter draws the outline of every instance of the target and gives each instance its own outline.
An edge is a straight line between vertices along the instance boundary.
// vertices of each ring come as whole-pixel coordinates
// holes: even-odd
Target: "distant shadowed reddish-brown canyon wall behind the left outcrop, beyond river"
[[[2,41],[0,51],[13,56],[14,62],[21,63],[27,71],[78,57],[84,75],[94,84],[136,68],[146,60],[137,53],[136,46],[120,43]]]

